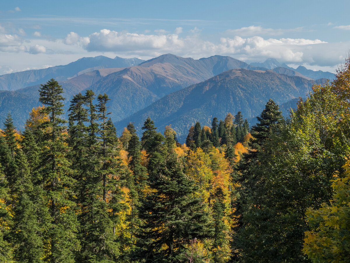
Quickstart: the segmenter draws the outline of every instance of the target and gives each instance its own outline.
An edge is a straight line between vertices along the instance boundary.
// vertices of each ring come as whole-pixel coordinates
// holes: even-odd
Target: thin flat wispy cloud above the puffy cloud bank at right
[[[226,33],[232,34],[232,35],[239,35],[239,36],[256,36],[256,35],[276,36],[276,35],[283,35],[287,32],[301,31],[301,30],[302,30],[302,27],[297,27],[292,29],[272,29],[272,28],[263,28],[261,26],[249,26],[249,27],[242,27],[239,29],[228,29],[226,30]]]

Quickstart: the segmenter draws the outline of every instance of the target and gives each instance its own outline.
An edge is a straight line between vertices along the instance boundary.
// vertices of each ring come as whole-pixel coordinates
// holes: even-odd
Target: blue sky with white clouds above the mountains
[[[334,69],[350,50],[350,1],[3,1],[0,75],[84,56],[275,58]]]

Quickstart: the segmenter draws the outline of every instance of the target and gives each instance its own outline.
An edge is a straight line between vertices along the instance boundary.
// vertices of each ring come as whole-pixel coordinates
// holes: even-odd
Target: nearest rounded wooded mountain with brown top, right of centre
[[[212,118],[224,119],[228,112],[235,115],[239,111],[247,119],[253,119],[261,113],[270,98],[282,104],[305,97],[314,84],[313,80],[277,74],[272,70],[228,70],[166,95],[117,122],[116,127],[122,130],[131,121],[141,131],[144,121],[150,116],[159,130],[172,124],[179,141],[183,142],[196,121],[210,126]]]

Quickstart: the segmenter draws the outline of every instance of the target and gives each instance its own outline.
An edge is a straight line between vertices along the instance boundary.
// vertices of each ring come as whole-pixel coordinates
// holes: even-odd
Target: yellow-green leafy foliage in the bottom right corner
[[[306,213],[310,231],[305,232],[303,251],[312,262],[348,262],[350,255],[350,161],[344,177],[335,176],[330,202]]]

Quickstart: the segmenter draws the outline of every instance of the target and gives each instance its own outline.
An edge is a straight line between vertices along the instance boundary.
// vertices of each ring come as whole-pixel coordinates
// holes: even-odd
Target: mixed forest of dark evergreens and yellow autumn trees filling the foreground
[[[66,121],[58,82],[39,92],[0,131],[1,262],[350,262],[350,60],[288,119],[270,99],[184,144],[150,117],[118,136],[106,94]]]

